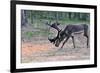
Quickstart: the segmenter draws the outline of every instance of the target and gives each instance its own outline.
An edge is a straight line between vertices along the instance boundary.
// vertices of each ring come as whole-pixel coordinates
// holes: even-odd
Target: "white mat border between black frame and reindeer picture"
[[[43,11],[70,11],[70,12],[85,12],[90,13],[90,60],[79,61],[57,61],[57,62],[42,62],[42,63],[21,63],[21,9],[25,10],[43,10]],[[38,68],[38,67],[53,67],[53,66],[71,66],[71,65],[86,65],[94,64],[94,10],[84,8],[69,8],[69,7],[51,7],[51,6],[35,6],[35,5],[16,5],[16,68]]]

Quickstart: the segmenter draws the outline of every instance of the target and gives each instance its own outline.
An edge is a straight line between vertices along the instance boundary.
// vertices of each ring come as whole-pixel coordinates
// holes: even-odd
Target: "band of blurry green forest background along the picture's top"
[[[28,22],[31,24],[38,23],[39,20],[61,21],[64,22],[89,22],[90,14],[81,12],[57,12],[57,11],[38,11],[23,10]],[[36,22],[37,21],[37,22]],[[41,21],[40,21],[41,22]],[[36,24],[37,25],[37,24]]]

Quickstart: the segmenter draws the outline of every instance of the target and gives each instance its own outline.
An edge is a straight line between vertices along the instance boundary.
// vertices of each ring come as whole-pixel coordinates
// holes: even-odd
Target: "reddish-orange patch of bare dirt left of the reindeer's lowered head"
[[[50,44],[24,43],[22,44],[22,57],[31,56],[33,53],[50,51],[53,47]]]

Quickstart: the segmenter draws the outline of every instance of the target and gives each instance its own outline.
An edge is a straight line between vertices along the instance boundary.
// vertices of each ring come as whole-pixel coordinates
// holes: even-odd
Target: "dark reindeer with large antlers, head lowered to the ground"
[[[48,40],[55,44],[56,47],[59,47],[60,43],[64,40],[61,48],[63,48],[64,44],[68,41],[68,39],[71,37],[73,41],[73,46],[75,46],[74,42],[74,35],[75,33],[84,33],[84,36],[87,38],[87,48],[88,48],[88,42],[89,42],[89,36],[88,36],[88,25],[87,24],[80,24],[80,25],[73,25],[69,24],[66,25],[66,27],[62,30],[58,28],[59,23],[53,23],[52,25],[47,24],[50,27],[56,29],[58,31],[57,36],[54,37],[53,39],[48,38]]]

